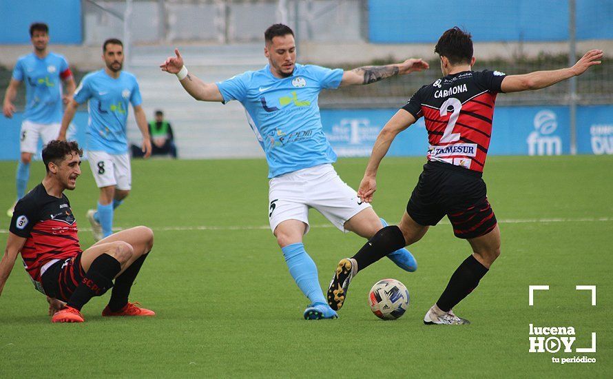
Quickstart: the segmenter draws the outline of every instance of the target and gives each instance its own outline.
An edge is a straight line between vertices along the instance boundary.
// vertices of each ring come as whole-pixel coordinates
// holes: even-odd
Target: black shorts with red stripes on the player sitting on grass
[[[68,301],[72,292],[81,284],[85,272],[81,267],[81,254],[61,259],[51,265],[41,277],[45,294],[51,298]]]

